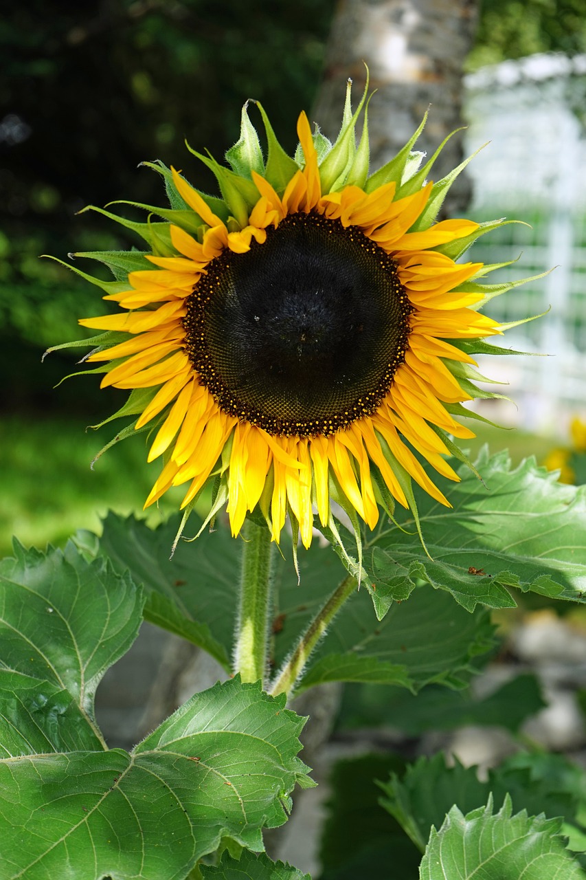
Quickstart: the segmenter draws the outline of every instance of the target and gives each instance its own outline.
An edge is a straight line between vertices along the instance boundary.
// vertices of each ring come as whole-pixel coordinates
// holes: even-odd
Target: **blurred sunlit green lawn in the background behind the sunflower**
[[[483,443],[491,451],[509,447],[515,463],[529,455],[543,460],[551,440],[523,431],[477,426],[466,441],[472,458]],[[0,423],[0,554],[11,554],[11,536],[26,546],[62,546],[77,529],[100,531],[108,509],[141,514],[160,464],[146,463],[144,436],[118,444],[90,468],[92,459],[114,434],[107,428],[84,432],[81,418],[22,415]],[[174,493],[174,494],[173,494]],[[179,507],[181,489],[167,493],[145,514],[156,524]]]

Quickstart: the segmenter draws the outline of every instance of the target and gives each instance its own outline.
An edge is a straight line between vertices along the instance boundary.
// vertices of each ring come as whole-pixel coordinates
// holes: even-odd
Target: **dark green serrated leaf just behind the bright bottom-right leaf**
[[[380,803],[421,852],[431,828],[442,825],[454,804],[467,813],[483,807],[492,794],[498,803],[511,796],[516,810],[527,810],[530,815],[544,812],[551,818],[569,818],[576,810],[574,796],[560,790],[555,781],[531,778],[529,767],[509,767],[505,761],[480,781],[476,767],[464,767],[458,759],[448,767],[441,752],[431,759],[418,759],[401,779],[392,773],[389,782],[378,784],[386,795]]]

